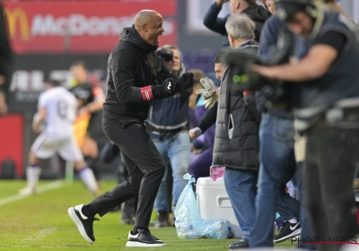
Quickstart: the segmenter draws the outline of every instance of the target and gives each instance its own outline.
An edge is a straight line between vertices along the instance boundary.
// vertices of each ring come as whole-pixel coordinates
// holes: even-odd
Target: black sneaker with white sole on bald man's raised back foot
[[[89,242],[93,243],[95,241],[95,237],[93,236],[93,221],[100,221],[97,218],[89,218],[83,215],[81,211],[83,209],[83,204],[76,205],[74,207],[70,207],[67,212],[70,216],[71,220],[74,221],[77,229],[83,238]]]

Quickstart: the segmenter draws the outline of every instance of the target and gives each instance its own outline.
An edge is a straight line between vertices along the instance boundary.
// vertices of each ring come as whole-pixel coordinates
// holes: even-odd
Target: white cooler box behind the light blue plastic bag
[[[197,205],[203,219],[221,218],[231,221],[234,238],[242,237],[243,233],[234,216],[230,198],[225,191],[223,177],[218,177],[216,181],[211,177],[199,177],[196,194]]]

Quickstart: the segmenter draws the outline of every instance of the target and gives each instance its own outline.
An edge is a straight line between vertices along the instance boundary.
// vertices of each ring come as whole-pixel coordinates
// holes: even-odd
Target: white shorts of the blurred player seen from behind
[[[31,146],[31,151],[39,159],[48,159],[58,153],[64,160],[83,160],[83,154],[74,136],[56,139],[47,133],[41,133]]]

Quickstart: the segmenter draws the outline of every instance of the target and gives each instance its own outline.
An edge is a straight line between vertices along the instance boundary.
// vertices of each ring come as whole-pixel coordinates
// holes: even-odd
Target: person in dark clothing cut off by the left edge
[[[0,3],[0,117],[7,113],[7,93],[12,76],[13,53],[7,36],[7,23],[4,18],[4,7]]]

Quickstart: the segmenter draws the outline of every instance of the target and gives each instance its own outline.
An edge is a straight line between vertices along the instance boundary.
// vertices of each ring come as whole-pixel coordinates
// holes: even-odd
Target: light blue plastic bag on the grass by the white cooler
[[[179,238],[228,238],[232,236],[231,222],[223,219],[203,220],[197,207],[196,196],[193,192],[194,177],[185,174],[188,185],[180,194],[174,217]]]

